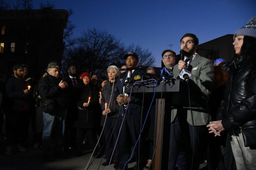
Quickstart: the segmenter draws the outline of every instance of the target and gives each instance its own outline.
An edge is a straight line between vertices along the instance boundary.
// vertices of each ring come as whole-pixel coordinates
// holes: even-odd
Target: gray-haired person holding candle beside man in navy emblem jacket
[[[102,118],[105,121],[104,127],[104,135],[105,135],[105,143],[106,143],[106,162],[102,163],[103,166],[108,166],[110,162],[110,158],[113,152],[113,143],[117,140],[119,127],[117,125],[118,119],[118,103],[114,99],[114,90],[116,88],[116,79],[120,75],[119,69],[116,66],[109,66],[107,69],[108,78],[110,80],[109,83],[106,83],[103,86],[102,90],[102,98],[101,98],[101,108],[102,108]],[[116,75],[116,76],[115,76]],[[114,87],[113,87],[114,84]],[[111,97],[112,96],[112,97]],[[111,100],[110,100],[111,97]],[[103,122],[104,123],[104,122]],[[113,131],[113,135],[112,134]],[[115,149],[114,153],[114,168],[117,168],[118,165],[118,148]],[[111,161],[113,163],[113,159]]]

